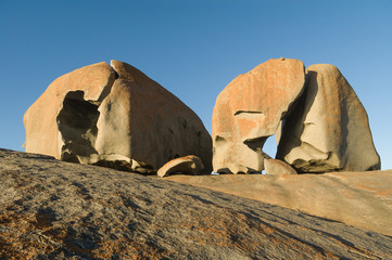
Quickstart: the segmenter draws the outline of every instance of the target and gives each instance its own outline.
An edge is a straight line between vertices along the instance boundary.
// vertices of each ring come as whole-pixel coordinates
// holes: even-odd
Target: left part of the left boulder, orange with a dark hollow
[[[92,130],[90,125],[97,120],[96,104],[110,92],[114,80],[114,69],[104,62],[55,79],[23,118],[26,152],[61,158],[67,146],[77,145],[69,140],[78,139],[80,156],[93,153],[94,140],[90,132],[97,129]]]

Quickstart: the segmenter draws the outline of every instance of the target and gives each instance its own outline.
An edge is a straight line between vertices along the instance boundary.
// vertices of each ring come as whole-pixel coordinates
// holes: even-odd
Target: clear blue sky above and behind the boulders
[[[23,151],[26,109],[86,65],[136,66],[211,132],[218,93],[283,56],[338,66],[367,109],[382,169],[392,169],[391,14],[391,0],[0,0],[0,147]]]

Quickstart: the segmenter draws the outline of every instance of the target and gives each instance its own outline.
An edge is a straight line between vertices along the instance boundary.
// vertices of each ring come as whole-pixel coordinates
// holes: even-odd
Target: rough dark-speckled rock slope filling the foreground
[[[0,259],[388,259],[392,237],[203,187],[0,150]]]

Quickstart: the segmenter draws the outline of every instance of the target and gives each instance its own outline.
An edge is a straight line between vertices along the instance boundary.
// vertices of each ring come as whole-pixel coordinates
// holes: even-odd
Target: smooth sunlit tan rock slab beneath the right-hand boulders
[[[392,170],[166,180],[269,203],[392,236]]]

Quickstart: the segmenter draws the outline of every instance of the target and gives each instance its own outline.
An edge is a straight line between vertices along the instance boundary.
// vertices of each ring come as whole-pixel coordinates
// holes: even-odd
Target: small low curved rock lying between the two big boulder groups
[[[175,172],[197,176],[203,170],[204,166],[201,159],[198,156],[188,155],[167,161],[157,170],[157,176],[164,177]]]

